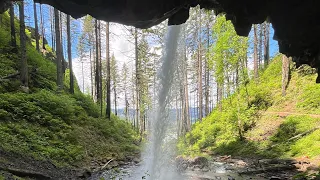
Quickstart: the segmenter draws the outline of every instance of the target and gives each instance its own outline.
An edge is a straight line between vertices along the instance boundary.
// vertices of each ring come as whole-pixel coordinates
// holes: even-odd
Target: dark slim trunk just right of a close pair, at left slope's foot
[[[107,118],[111,119],[111,91],[110,91],[110,32],[109,32],[109,22],[106,23],[106,59],[107,59],[107,104],[106,104],[106,115]]]

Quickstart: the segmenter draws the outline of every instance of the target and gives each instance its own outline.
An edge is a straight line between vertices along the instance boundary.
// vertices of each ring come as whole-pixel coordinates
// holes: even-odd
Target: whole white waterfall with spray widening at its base
[[[181,178],[175,171],[172,162],[173,146],[168,145],[170,134],[167,133],[169,125],[170,89],[175,74],[177,64],[176,51],[180,33],[180,26],[169,26],[165,48],[162,56],[162,66],[158,72],[158,93],[157,105],[154,110],[154,117],[151,118],[151,136],[147,147],[143,152],[143,162],[141,166],[134,169],[130,176],[124,176],[124,180],[179,180]],[[110,179],[110,174],[106,172],[103,177]]]

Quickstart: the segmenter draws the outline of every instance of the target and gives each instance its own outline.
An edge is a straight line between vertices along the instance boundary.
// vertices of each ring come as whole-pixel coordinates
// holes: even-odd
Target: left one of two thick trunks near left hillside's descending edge
[[[56,55],[57,55],[57,86],[58,90],[63,90],[63,71],[62,71],[62,46],[60,37],[59,11],[54,9],[55,34],[56,34]]]

